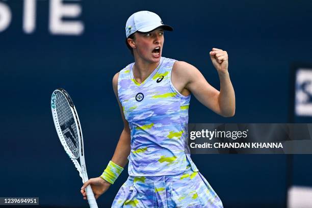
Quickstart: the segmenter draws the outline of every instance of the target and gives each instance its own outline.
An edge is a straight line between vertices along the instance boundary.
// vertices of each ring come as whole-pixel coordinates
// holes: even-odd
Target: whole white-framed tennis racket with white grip
[[[51,110],[59,139],[85,183],[88,180],[84,154],[84,139],[77,111],[69,94],[62,88],[56,89],[51,97]],[[80,159],[80,164],[77,159]],[[97,208],[91,186],[86,194],[91,208]]]

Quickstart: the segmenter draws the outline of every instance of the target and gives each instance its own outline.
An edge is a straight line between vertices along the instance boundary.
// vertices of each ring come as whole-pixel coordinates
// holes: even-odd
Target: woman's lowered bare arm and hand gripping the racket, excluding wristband
[[[118,90],[117,90],[118,76],[119,76],[119,73],[115,74],[115,76],[113,78],[113,89],[114,89],[114,93],[115,93],[117,101],[118,101],[119,110],[120,110],[121,117],[123,120],[123,130],[121,132],[121,135],[120,135],[117,147],[115,149],[112,161],[115,164],[117,164],[121,167],[124,167],[128,162],[127,157],[130,154],[130,150],[131,150],[131,146],[130,146],[131,136],[130,136],[129,124],[123,115],[122,106],[121,106],[119,99],[118,99]],[[91,185],[95,199],[97,199],[100,195],[105,193],[111,186],[111,184],[108,183],[108,181],[106,181],[100,177],[91,178],[88,181],[86,181],[84,183],[83,187],[81,188],[81,193],[84,196],[84,199],[87,199],[85,188],[88,185]]]

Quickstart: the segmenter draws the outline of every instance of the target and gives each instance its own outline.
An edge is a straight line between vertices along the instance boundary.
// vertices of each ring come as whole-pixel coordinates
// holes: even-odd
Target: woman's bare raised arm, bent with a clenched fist
[[[227,53],[213,48],[210,51],[210,58],[219,74],[220,91],[212,87],[196,67],[181,61],[173,66],[173,84],[175,80],[175,83],[183,83],[180,89],[192,92],[198,101],[217,114],[231,117],[235,114],[235,92],[228,73]]]

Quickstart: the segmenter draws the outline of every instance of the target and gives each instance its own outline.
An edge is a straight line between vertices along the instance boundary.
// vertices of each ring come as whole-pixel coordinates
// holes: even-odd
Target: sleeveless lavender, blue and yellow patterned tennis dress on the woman
[[[139,84],[133,65],[119,72],[118,98],[131,129],[129,177],[112,207],[223,207],[191,160],[187,145],[190,95],[171,83],[176,60],[159,66]]]

